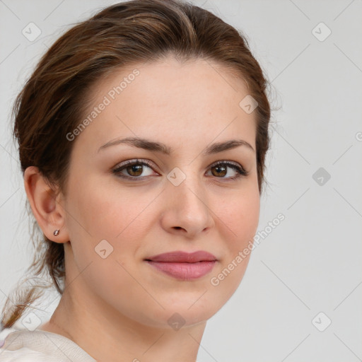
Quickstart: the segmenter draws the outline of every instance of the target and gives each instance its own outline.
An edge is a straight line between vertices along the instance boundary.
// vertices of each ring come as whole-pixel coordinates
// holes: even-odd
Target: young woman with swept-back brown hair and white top
[[[246,40],[181,1],[116,4],[71,28],[18,95],[14,136],[62,298],[0,360],[196,361],[243,279],[269,148],[267,82]],[[33,318],[33,319],[32,319]]]

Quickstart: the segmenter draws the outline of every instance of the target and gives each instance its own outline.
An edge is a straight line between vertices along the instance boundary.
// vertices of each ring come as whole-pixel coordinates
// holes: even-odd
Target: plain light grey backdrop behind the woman
[[[0,306],[31,262],[10,108],[40,56],[116,1],[0,1]],[[271,83],[269,186],[238,291],[198,361],[362,361],[362,1],[192,1],[247,36]],[[22,30],[35,23],[41,34]],[[268,223],[278,214],[279,226]],[[45,303],[43,322],[59,300]]]

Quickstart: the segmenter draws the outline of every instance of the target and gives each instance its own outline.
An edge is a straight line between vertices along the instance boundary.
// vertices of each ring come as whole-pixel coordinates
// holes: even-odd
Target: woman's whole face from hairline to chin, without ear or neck
[[[63,200],[78,296],[155,327],[204,322],[226,303],[259,221],[245,96],[240,79],[201,59],[129,66],[95,86],[88,122],[69,135]],[[198,251],[213,256],[177,254]]]

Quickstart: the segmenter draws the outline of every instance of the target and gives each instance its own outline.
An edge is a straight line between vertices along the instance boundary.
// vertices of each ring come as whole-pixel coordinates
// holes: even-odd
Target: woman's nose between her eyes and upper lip
[[[161,224],[168,233],[194,238],[214,226],[206,189],[196,178],[188,176],[178,186],[169,182],[163,192]]]

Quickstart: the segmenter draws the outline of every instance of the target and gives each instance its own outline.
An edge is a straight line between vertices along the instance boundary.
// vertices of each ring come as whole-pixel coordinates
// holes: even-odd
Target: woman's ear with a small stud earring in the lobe
[[[33,214],[45,236],[55,243],[69,241],[65,223],[66,213],[62,206],[62,194],[57,194],[48,185],[45,177],[35,166],[26,168],[24,186]],[[54,235],[54,230],[59,230],[57,236]]]

